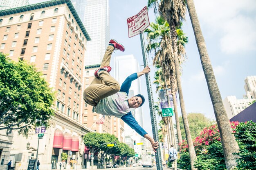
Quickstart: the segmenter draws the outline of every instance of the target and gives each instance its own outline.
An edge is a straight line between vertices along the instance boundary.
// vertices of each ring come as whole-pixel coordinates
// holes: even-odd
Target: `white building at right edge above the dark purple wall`
[[[244,88],[246,95],[243,95],[243,99],[237,99],[236,96],[227,96],[223,100],[229,119],[243,111],[249,106],[249,102],[256,99],[256,76],[247,76]]]

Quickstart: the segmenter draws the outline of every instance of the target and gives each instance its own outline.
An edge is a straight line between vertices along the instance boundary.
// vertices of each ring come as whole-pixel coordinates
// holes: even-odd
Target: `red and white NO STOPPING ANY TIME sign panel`
[[[144,7],[132,17],[127,19],[129,37],[142,33],[149,26],[148,10]]]

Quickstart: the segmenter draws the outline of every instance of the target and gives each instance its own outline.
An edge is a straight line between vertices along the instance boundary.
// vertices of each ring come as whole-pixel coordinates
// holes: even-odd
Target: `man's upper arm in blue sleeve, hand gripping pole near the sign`
[[[126,92],[129,94],[129,89],[132,85],[132,81],[136,80],[138,77],[142,76],[143,74],[148,74],[150,72],[150,68],[146,66],[141,72],[133,73],[128,76],[124,83],[121,85],[120,92]]]

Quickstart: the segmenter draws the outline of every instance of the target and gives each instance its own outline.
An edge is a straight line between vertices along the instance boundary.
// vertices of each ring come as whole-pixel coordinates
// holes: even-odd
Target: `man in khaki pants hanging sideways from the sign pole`
[[[138,108],[143,105],[145,101],[144,96],[137,94],[136,96],[128,98],[132,81],[139,76],[148,74],[150,68],[146,66],[141,72],[131,74],[126,78],[120,88],[119,83],[108,73],[111,70],[109,64],[114,50],[124,51],[124,46],[114,39],[111,39],[101,61],[100,68],[94,72],[95,78],[90,86],[83,92],[83,99],[86,103],[93,106],[93,112],[107,116],[115,116],[124,120],[124,122],[139,133],[139,135],[148,139],[154,152],[156,152],[158,142],[155,142],[155,140],[139,126],[130,111],[131,108]]]

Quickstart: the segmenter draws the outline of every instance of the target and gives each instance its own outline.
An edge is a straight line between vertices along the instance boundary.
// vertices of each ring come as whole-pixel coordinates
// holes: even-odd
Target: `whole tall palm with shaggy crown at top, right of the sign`
[[[186,132],[186,140],[189,146],[189,157],[191,162],[191,169],[194,170],[194,162],[196,160],[195,155],[195,148],[193,146],[193,141],[191,138],[190,130],[189,130],[189,122],[187,120],[185,104],[183,99],[182,93],[182,86],[180,81],[180,67],[179,67],[179,60],[178,60],[178,50],[177,50],[177,32],[176,27],[180,26],[180,23],[184,20],[185,13],[186,13],[186,4],[184,0],[160,0],[158,4],[158,0],[148,0],[148,6],[151,7],[154,5],[155,9],[158,7],[158,11],[164,17],[164,19],[170,24],[170,31],[171,31],[171,54],[174,56],[174,63],[175,63],[175,74],[177,79],[177,88],[179,92],[180,98],[180,107],[182,112],[182,120],[184,124],[184,129]],[[156,11],[156,10],[155,10]]]

